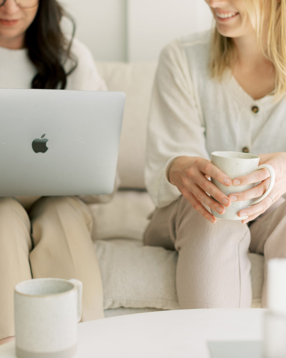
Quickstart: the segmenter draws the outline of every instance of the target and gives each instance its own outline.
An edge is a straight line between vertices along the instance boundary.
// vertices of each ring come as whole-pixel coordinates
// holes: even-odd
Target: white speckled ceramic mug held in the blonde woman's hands
[[[251,205],[257,204],[261,202],[267,195],[271,192],[274,182],[275,182],[275,171],[273,167],[269,164],[262,164],[258,166],[260,157],[255,154],[250,153],[241,153],[241,152],[232,152],[232,151],[217,151],[211,153],[211,162],[215,164],[218,169],[220,169],[223,173],[228,175],[231,179],[237,178],[238,176],[247,175],[253,173],[253,171],[266,168],[270,173],[270,183],[266,190],[266,192],[261,195],[261,197],[256,200],[244,200],[232,202],[230,207],[225,208],[224,214],[219,214],[216,211],[211,209],[213,216],[218,218],[227,219],[227,220],[243,220],[246,217],[238,217],[237,213],[242,210],[249,208]],[[253,184],[247,185],[230,185],[230,187],[226,187],[225,185],[219,183],[217,180],[211,178],[213,184],[216,185],[218,189],[221,190],[227,196],[232,193],[243,192],[247,189],[251,189],[254,187]]]

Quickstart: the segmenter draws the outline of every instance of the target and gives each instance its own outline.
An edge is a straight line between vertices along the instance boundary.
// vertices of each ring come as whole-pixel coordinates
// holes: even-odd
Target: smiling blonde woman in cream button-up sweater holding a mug
[[[286,1],[206,3],[213,32],[177,39],[159,59],[145,171],[157,208],[144,241],[178,251],[180,308],[250,307],[248,251],[264,255],[265,279],[267,260],[286,257]],[[222,214],[259,197],[269,172],[231,180],[209,160],[230,150],[258,154],[276,173],[270,195],[238,212],[242,221],[217,220],[210,209]],[[210,177],[226,186],[261,183],[227,196]]]

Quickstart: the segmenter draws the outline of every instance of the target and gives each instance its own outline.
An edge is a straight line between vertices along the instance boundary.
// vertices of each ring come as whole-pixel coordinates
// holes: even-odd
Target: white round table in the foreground
[[[78,324],[75,358],[210,358],[209,341],[262,339],[264,309],[138,313]],[[15,357],[15,342],[0,357]]]

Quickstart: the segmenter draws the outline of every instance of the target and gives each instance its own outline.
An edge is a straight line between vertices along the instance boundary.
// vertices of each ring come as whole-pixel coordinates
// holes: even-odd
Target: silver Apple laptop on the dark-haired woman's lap
[[[125,94],[0,89],[0,196],[112,193]]]

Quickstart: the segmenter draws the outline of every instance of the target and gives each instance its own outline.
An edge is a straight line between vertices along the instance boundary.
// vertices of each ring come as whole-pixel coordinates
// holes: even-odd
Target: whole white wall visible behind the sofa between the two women
[[[204,0],[61,0],[96,61],[156,61],[172,39],[208,29]],[[65,26],[66,23],[65,23]]]

